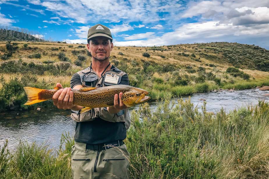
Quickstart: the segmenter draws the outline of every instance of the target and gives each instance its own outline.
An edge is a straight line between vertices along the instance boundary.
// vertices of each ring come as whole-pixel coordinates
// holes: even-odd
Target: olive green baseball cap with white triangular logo
[[[103,36],[113,40],[109,28],[102,24],[96,24],[89,28],[87,40],[97,36]]]

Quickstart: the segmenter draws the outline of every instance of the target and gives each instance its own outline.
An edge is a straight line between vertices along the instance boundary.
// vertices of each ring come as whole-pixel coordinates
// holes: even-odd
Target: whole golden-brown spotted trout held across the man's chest
[[[60,90],[61,87],[55,87],[53,90],[45,90],[34,87],[24,87],[28,101],[24,105],[31,105],[42,101],[52,99],[52,96]],[[128,86],[112,85],[106,87],[83,87],[79,90],[71,89],[74,93],[73,104],[84,106],[81,112],[86,112],[91,108],[102,108],[114,105],[114,95],[123,93],[121,101],[128,107],[144,103],[150,99],[147,91]]]

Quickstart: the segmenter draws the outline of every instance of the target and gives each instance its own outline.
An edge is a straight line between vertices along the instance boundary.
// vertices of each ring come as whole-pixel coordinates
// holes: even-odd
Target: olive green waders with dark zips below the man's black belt
[[[74,179],[129,178],[129,152],[125,144],[106,150],[89,150],[86,144],[75,142],[71,152]]]

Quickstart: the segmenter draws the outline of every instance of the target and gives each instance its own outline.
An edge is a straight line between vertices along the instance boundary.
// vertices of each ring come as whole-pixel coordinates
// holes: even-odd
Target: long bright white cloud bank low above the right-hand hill
[[[235,39],[238,42],[245,43],[248,42],[246,39],[249,37],[263,39],[261,43],[265,44],[269,39],[268,32],[269,26],[266,24],[260,24],[259,28],[256,28],[252,26],[233,26],[233,24],[220,24],[219,21],[210,21],[184,24],[173,32],[164,33],[161,37],[151,36],[147,40],[116,41],[114,44],[116,46],[161,46],[194,42],[235,42]]]

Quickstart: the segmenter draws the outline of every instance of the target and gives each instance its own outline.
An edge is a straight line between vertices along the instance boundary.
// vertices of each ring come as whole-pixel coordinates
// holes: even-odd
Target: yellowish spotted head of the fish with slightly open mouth
[[[123,93],[121,100],[123,104],[128,107],[132,107],[137,104],[145,103],[150,99],[146,90],[131,87],[130,90]]]

